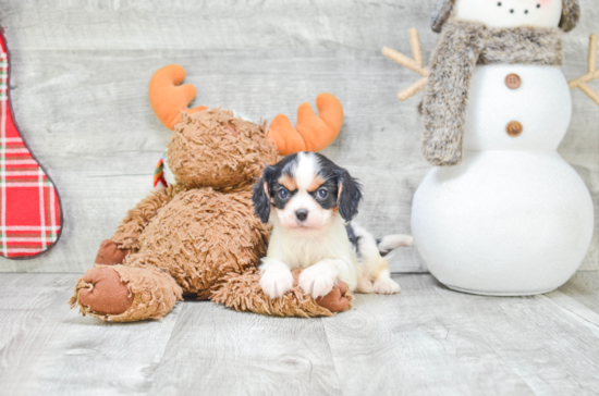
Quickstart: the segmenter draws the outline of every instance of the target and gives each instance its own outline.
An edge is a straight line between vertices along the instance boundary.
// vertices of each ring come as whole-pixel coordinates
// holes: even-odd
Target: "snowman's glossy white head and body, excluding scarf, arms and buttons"
[[[537,3],[546,12],[524,18]],[[492,27],[560,21],[559,0],[503,0],[513,13],[498,13],[497,4],[459,0],[455,16]],[[521,79],[515,89],[511,74]],[[418,251],[441,283],[461,292],[555,289],[580,265],[595,222],[588,189],[557,152],[572,114],[567,82],[553,66],[477,66],[466,114],[462,163],[433,168],[414,196]],[[516,137],[506,133],[513,121],[522,124]]]

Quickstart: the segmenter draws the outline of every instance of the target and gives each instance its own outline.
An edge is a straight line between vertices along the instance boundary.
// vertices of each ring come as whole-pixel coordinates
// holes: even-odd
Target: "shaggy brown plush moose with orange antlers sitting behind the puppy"
[[[176,86],[184,78],[181,71],[167,66],[150,83],[150,103],[158,117],[174,120],[173,114],[181,114],[168,146],[176,184],[155,190],[129,211],[114,235],[101,244],[94,268],[77,281],[71,307],[113,322],[160,319],[184,294],[273,315],[346,310],[352,296],[343,283],[318,300],[298,287],[279,299],[262,293],[257,265],[266,253],[269,230],[254,213],[252,185],[267,164],[279,161],[271,140],[282,141],[286,150],[293,145],[282,138],[288,131],[271,125],[267,132],[266,123],[254,124],[231,111],[181,112],[195,96],[195,88]],[[342,122],[341,104],[326,95],[321,112],[337,114]],[[340,122],[331,129],[330,122],[320,120],[326,131],[319,131],[318,120],[307,124],[313,126],[303,134],[322,133],[325,139],[334,139],[341,128]],[[270,133],[277,138],[269,139]]]

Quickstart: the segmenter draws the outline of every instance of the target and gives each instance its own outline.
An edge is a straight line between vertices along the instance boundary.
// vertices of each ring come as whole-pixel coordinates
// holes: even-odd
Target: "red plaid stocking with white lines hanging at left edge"
[[[62,225],[50,177],[32,154],[14,122],[9,95],[9,53],[0,51],[0,256],[24,259],[52,247]]]

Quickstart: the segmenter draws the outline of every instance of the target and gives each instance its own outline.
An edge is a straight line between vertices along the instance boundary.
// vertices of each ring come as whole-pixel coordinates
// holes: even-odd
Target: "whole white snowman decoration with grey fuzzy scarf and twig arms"
[[[590,195],[557,152],[571,115],[570,89],[599,77],[597,36],[588,73],[570,84],[560,66],[562,34],[577,0],[438,0],[440,32],[425,69],[383,53],[423,78],[423,153],[435,165],[418,187],[412,232],[429,271],[448,287],[487,295],[535,295],[565,283],[594,231]]]

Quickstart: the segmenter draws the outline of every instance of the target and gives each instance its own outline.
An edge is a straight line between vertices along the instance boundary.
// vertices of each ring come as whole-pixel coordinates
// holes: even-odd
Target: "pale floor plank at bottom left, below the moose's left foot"
[[[105,323],[69,310],[78,275],[0,275],[0,394],[145,392],[179,317]],[[10,336],[7,336],[10,334]]]

